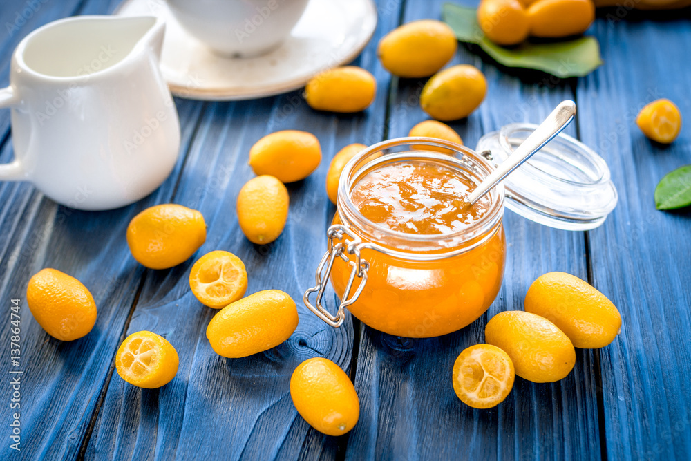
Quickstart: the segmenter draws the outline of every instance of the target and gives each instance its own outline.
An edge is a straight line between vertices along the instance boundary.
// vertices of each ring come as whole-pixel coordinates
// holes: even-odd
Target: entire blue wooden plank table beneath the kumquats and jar
[[[364,113],[312,111],[299,92],[244,102],[176,100],[182,153],[166,182],[129,207],[82,212],[56,205],[26,183],[0,183],[0,458],[8,459],[691,459],[691,213],[656,211],[660,178],[691,163],[691,21],[685,12],[652,15],[600,11],[589,30],[605,64],[580,79],[500,68],[460,46],[453,63],[482,69],[489,88],[480,109],[451,124],[468,146],[509,122],[537,122],[561,100],[578,104],[571,135],[607,160],[619,203],[605,224],[566,232],[507,211],[508,260],[499,297],[480,320],[433,339],[384,335],[348,317],[330,328],[299,305],[289,341],[263,354],[225,359],[205,328],[216,311],[189,291],[193,259],[146,270],[131,257],[125,229],[145,207],[180,203],[209,227],[197,256],[229,250],[249,272],[248,293],[277,288],[300,300],[314,281],[334,213],[325,191],[330,158],[352,142],[406,135],[425,120],[424,80],[391,77],[377,61],[379,37],[400,23],[438,18],[442,0],[382,0],[375,37],[354,64],[377,77],[377,99]],[[624,4],[627,4],[624,2]],[[70,15],[112,12],[117,0],[3,0],[0,84],[10,54],[31,30]],[[686,117],[670,147],[644,138],[634,123],[643,104],[668,97]],[[12,158],[9,111],[0,111],[0,162]],[[281,129],[304,129],[324,159],[289,185],[290,216],[272,245],[249,243],[234,204],[253,173],[249,147]],[[98,306],[86,337],[49,337],[26,306],[32,274],[55,267],[81,280]],[[462,404],[451,387],[455,357],[483,342],[493,314],[522,308],[540,274],[564,271],[592,283],[618,306],[621,334],[601,350],[578,350],[576,368],[553,384],[517,378],[490,410]],[[21,299],[21,451],[10,449],[12,385],[10,305]],[[301,303],[299,303],[301,304]],[[180,355],[175,379],[142,390],[114,373],[125,335],[153,330]],[[288,391],[300,361],[323,356],[350,373],[361,402],[355,429],[322,435],[296,413]]]

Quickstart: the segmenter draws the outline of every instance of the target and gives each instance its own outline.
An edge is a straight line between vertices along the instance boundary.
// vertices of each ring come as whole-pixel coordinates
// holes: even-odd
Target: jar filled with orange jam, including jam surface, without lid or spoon
[[[453,155],[417,150],[425,144]],[[464,198],[490,171],[470,149],[426,138],[390,140],[354,158],[330,228],[330,253],[340,254],[326,272],[342,306],[405,337],[444,335],[480,317],[504,273],[504,192],[495,187],[473,206]]]

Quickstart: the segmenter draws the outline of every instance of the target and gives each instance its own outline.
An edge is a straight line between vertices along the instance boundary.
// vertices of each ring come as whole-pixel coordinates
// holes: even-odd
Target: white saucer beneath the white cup
[[[371,0],[310,0],[290,37],[254,58],[214,55],[185,32],[164,0],[125,0],[117,15],[166,20],[161,70],[171,92],[193,100],[247,100],[292,91],[328,68],[352,61],[377,26]]]

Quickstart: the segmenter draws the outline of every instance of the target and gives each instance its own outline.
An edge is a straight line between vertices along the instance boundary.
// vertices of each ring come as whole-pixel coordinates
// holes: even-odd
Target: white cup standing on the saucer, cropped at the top
[[[277,48],[308,0],[167,0],[180,25],[214,53],[254,57]]]

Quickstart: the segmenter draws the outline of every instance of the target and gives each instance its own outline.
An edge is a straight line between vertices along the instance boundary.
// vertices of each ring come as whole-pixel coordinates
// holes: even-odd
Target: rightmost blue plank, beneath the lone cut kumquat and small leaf
[[[600,352],[607,454],[688,460],[691,215],[656,211],[653,192],[665,173],[691,163],[691,24],[629,13],[598,19],[594,33],[606,64],[578,82],[580,135],[609,163],[619,203],[590,232],[592,272],[623,318],[621,335]],[[685,117],[670,147],[647,140],[634,122],[660,97]]]

